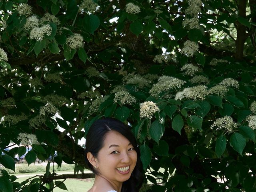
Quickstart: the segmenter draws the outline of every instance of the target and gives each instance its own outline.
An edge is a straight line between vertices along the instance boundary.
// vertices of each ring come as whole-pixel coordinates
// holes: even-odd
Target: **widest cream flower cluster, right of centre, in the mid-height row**
[[[183,98],[193,100],[204,100],[205,96],[209,94],[205,85],[198,85],[194,87],[184,88],[181,92],[178,92],[175,96],[175,100],[182,100]]]

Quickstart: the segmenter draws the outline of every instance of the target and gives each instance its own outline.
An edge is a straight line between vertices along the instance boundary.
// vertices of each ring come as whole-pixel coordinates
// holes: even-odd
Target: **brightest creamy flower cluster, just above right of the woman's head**
[[[152,118],[155,112],[160,111],[156,103],[145,101],[140,105],[140,118]]]

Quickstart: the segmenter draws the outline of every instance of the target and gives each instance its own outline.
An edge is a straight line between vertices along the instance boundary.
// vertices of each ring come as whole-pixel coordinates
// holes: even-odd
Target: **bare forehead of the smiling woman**
[[[128,145],[130,143],[130,141],[123,136],[122,134],[120,134],[119,132],[116,131],[109,131],[106,133],[106,137],[104,139],[103,142],[103,147],[109,147],[112,144],[116,144],[116,145]]]

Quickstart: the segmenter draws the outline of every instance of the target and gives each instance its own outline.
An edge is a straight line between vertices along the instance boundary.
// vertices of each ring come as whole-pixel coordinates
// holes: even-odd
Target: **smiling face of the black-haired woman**
[[[137,153],[130,141],[116,131],[106,134],[96,158],[97,172],[111,183],[128,180],[136,166]]]

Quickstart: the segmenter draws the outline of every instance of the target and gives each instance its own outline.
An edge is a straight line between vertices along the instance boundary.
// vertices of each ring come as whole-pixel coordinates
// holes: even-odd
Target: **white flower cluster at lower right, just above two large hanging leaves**
[[[232,117],[230,116],[224,116],[221,118],[218,118],[214,121],[214,123],[211,125],[212,129],[215,129],[216,131],[220,129],[224,129],[228,132],[234,130],[236,128],[237,124],[234,122]]]

